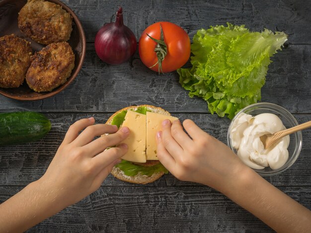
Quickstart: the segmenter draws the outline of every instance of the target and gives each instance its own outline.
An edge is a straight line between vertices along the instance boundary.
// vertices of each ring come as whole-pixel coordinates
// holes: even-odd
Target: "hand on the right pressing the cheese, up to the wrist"
[[[188,133],[188,136],[183,127]],[[248,169],[225,144],[202,131],[193,121],[162,123],[157,133],[157,157],[178,179],[225,191],[226,182]]]

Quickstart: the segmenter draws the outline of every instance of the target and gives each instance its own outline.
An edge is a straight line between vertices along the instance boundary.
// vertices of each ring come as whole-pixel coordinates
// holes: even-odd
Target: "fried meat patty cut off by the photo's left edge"
[[[12,35],[0,37],[0,87],[20,86],[31,63],[30,43]]]

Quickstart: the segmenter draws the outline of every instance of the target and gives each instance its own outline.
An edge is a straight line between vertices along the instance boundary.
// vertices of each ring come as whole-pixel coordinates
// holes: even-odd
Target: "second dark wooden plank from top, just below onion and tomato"
[[[290,45],[277,53],[269,66],[262,101],[273,102],[292,113],[311,113],[311,46]],[[63,92],[39,101],[21,102],[0,96],[0,112],[115,112],[132,104],[162,106],[170,112],[208,112],[201,98],[190,98],[178,83],[178,74],[158,76],[146,68],[139,55],[110,66],[88,44],[78,77]]]

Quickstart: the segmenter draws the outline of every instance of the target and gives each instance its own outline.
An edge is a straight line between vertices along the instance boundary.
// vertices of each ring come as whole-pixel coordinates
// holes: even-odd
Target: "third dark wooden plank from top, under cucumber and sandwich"
[[[110,114],[46,114],[52,121],[52,130],[41,141],[0,147],[0,185],[26,185],[40,178],[59,145],[61,144],[68,127],[76,120],[94,116],[96,121],[105,122]],[[227,144],[227,131],[230,124],[228,119],[221,119],[211,114],[175,114],[181,120],[190,118],[203,130]],[[298,122],[311,120],[311,115],[295,115]],[[295,164],[280,175],[267,178],[274,185],[311,185],[311,130],[303,131],[303,150]],[[115,179],[113,176],[103,183],[104,186],[129,185]],[[165,175],[151,186],[179,186],[196,185],[191,182],[182,182],[172,175]]]

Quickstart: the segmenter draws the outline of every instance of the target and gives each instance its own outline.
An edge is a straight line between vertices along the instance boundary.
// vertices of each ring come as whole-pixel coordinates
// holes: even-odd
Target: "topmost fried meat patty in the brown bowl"
[[[44,0],[28,0],[18,14],[18,27],[41,44],[68,41],[72,17],[61,5]]]

